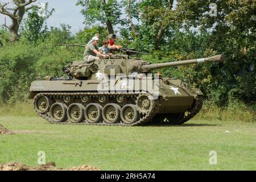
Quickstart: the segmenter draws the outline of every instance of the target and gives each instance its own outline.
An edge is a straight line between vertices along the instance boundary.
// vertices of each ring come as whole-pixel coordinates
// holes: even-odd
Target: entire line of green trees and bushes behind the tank
[[[49,10],[48,5],[42,10],[35,1],[13,0],[11,9],[7,8],[10,1],[0,4],[0,13],[12,20],[9,27],[2,26],[0,30],[0,66],[10,71],[8,83],[6,73],[1,73],[2,101],[13,98],[15,87],[10,83],[26,85],[25,89],[19,89],[23,90],[19,96],[22,97],[33,79],[47,74],[62,76],[63,64],[81,59],[83,48],[59,45],[85,44],[99,32],[102,39],[117,33],[118,44],[149,52],[142,59],[152,63],[224,54],[223,64],[188,65],[161,72],[202,89],[205,99],[214,105],[226,106],[234,100],[255,104],[256,2],[253,0],[78,0],[76,5],[85,17],[85,28],[75,35],[68,25],[48,27],[46,20],[54,16],[54,10]],[[23,18],[24,14],[27,18]],[[30,52],[31,47],[34,52]],[[31,56],[33,64],[25,64],[31,69],[24,68],[22,72],[29,78],[18,71],[27,56]]]

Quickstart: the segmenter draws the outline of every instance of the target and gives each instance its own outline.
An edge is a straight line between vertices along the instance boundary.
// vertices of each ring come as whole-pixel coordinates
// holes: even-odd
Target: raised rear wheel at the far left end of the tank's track
[[[35,101],[35,109],[38,113],[46,113],[51,107],[51,99],[46,96],[39,96]]]

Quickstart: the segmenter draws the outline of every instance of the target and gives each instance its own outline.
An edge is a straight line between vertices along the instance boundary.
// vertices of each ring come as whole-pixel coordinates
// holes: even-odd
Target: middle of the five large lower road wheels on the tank
[[[85,108],[85,119],[89,123],[98,123],[102,120],[102,109],[99,104],[89,104]]]

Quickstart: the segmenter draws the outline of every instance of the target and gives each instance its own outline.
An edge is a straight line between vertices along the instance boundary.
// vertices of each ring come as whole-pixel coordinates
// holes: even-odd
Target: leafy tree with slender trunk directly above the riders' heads
[[[122,22],[121,4],[117,0],[78,0],[77,5],[84,8],[81,13],[85,16],[85,24],[99,21],[106,24],[109,34],[114,34],[113,26]]]

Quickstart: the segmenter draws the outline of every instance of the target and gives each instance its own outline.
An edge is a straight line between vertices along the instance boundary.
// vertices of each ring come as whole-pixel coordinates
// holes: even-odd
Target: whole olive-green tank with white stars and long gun
[[[74,61],[63,68],[67,77],[33,81],[29,98],[35,111],[50,123],[181,125],[201,110],[203,93],[152,71],[223,61],[223,55],[160,64],[130,59],[129,55],[113,55],[93,63]]]

